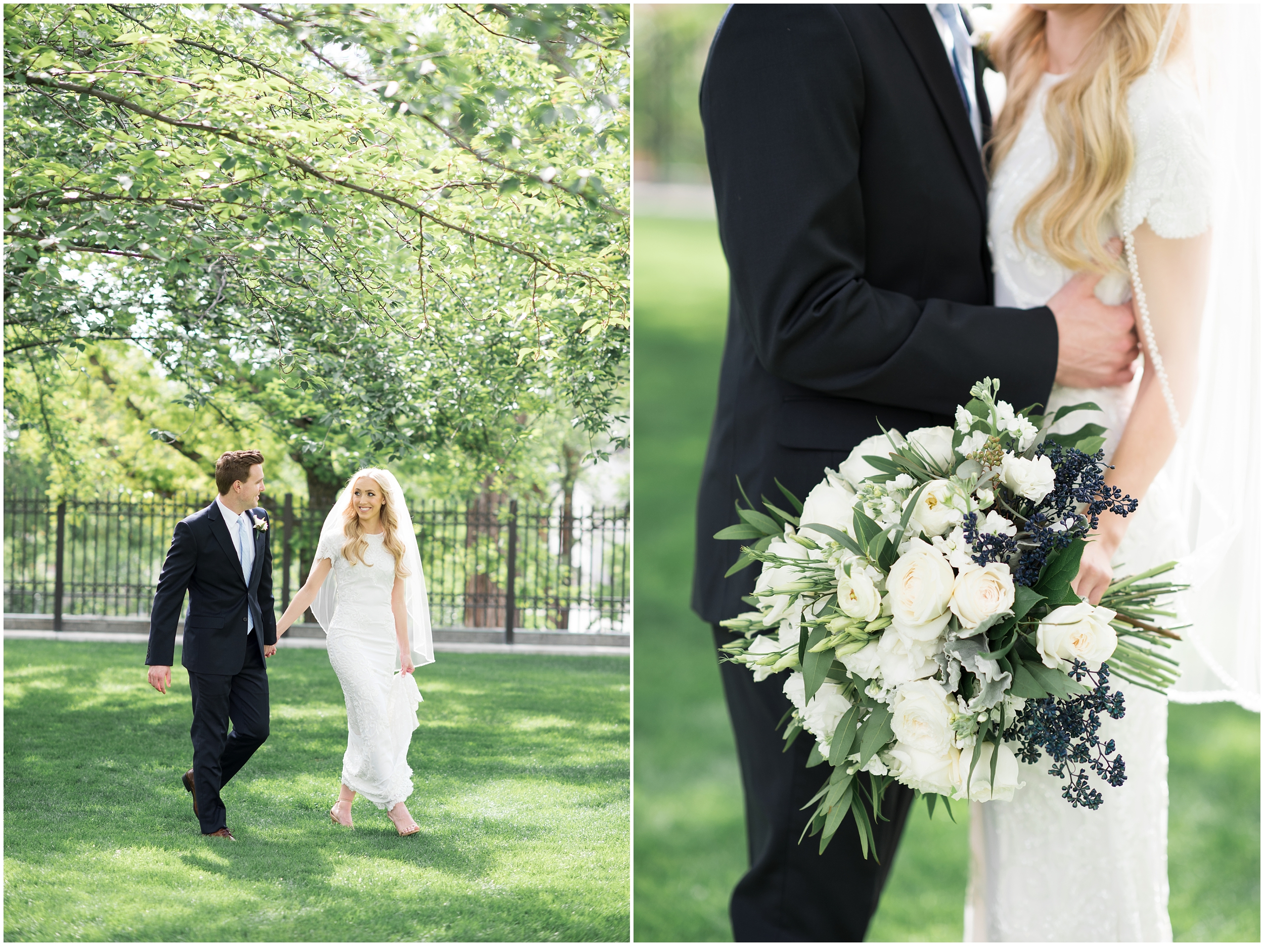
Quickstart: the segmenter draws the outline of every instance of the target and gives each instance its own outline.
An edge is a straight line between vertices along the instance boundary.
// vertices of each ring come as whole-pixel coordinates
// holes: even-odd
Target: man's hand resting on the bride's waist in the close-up
[[[1064,387],[1115,387],[1133,379],[1140,354],[1133,304],[1109,306],[1093,295],[1101,280],[1077,273],[1049,300],[1058,322],[1058,373]]]

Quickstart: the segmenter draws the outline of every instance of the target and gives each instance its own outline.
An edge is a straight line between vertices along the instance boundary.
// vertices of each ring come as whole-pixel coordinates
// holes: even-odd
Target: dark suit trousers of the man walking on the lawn
[[[268,739],[268,672],[255,632],[245,646],[245,663],[235,674],[188,672],[193,694],[193,788],[202,833],[225,827],[220,789],[241,770]],[[229,722],[233,731],[229,732]]]

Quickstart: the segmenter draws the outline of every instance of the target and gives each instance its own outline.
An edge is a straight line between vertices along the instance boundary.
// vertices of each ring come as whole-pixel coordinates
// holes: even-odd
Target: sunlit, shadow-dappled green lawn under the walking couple
[[[178,659],[177,659],[178,663]],[[330,823],[346,712],[324,650],[269,661],[272,736],[201,837],[188,678],[144,648],[5,641],[6,940],[628,937],[628,661],[440,654],[410,763],[418,835]]]

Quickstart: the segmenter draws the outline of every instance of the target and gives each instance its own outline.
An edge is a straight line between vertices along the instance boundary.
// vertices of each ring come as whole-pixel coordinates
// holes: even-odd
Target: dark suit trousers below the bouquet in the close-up
[[[734,635],[713,626],[715,645]],[[729,902],[733,937],[752,941],[847,941],[865,938],[870,919],[895,857],[900,832],[913,803],[913,789],[891,784],[882,814],[873,827],[873,851],[861,855],[860,833],[848,816],[820,850],[820,836],[799,836],[817,806],[800,811],[829,778],[829,765],[805,768],[813,740],[800,734],[782,751],[777,721],[790,710],[784,675],[756,683],[739,664],[722,663],[720,678],[737,736],[737,758],[746,796],[746,838],[750,869]]]

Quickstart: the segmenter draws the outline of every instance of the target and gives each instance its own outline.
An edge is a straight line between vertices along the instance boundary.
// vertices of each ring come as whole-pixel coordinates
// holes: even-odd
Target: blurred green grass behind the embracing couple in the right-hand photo
[[[707,626],[689,611],[694,500],[715,403],[727,271],[714,224],[637,218],[635,931],[729,940],[746,868],[741,783]],[[1169,826],[1177,940],[1259,941],[1259,716],[1173,706]],[[962,936],[958,823],[908,823],[872,941]]]

